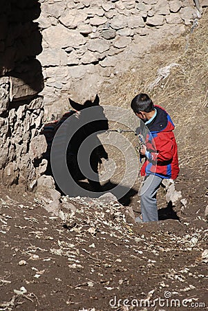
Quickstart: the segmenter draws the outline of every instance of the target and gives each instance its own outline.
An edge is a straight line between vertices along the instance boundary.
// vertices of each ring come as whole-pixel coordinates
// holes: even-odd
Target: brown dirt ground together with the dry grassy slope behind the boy
[[[140,212],[139,180],[120,202],[65,198],[75,207],[65,220],[35,194],[1,189],[0,310],[208,309],[207,39],[205,13],[193,33],[155,47],[101,94],[128,108],[158,68],[180,64],[149,93],[176,124],[181,198],[168,205],[161,188],[160,221],[135,225],[126,210]]]

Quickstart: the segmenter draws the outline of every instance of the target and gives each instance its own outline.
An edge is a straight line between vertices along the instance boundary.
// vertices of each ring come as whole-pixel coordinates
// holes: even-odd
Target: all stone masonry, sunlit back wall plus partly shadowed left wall
[[[192,0],[1,0],[0,17],[0,180],[34,189],[47,165],[44,106],[50,117],[69,96],[99,93],[198,12]]]

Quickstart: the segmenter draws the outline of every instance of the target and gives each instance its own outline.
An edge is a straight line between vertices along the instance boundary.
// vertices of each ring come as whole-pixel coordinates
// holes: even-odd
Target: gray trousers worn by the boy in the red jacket
[[[140,190],[141,211],[144,222],[158,221],[157,191],[163,178],[155,175],[149,175],[144,178]]]

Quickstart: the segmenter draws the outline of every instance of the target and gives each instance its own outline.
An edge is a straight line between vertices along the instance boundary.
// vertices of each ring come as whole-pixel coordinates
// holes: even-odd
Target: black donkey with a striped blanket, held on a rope
[[[108,120],[104,116],[103,108],[100,106],[100,98],[98,95],[96,95],[93,102],[91,100],[87,100],[83,105],[70,99],[69,102],[70,106],[72,106],[75,110],[68,111],[60,120],[46,124],[44,126],[44,130],[42,131],[48,144],[48,149],[45,154],[45,158],[48,160],[47,173],[52,174],[50,166],[50,151],[55,134],[57,133],[59,127],[66,122],[67,124],[64,124],[68,127],[76,126],[77,128],[68,142],[66,151],[66,163],[70,176],[72,176],[75,182],[79,182],[80,180],[86,179],[86,171],[87,179],[92,190],[101,191],[102,187],[99,181],[98,167],[99,164],[102,163],[102,158],[108,159],[108,154],[106,153],[99,138],[97,138],[97,133],[108,130]],[[67,126],[66,131],[64,129],[64,133],[67,132]],[[68,139],[67,135],[68,134],[66,134],[66,139]],[[60,140],[62,139],[63,138],[61,137]],[[82,147],[82,143],[84,143],[85,140],[86,144],[82,149],[80,147]],[[59,151],[57,150],[57,153],[58,152]],[[81,155],[79,155],[79,152]],[[84,164],[84,172],[83,169],[80,169],[82,164]],[[95,173],[93,174],[93,178],[91,178],[91,170]],[[71,190],[73,192],[73,189]],[[70,193],[68,194],[70,195]]]

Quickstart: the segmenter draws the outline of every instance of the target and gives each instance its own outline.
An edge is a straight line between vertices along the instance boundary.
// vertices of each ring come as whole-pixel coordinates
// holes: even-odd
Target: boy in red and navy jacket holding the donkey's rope
[[[140,122],[140,134],[145,144],[140,148],[140,157],[145,158],[140,171],[144,176],[141,196],[142,220],[158,220],[156,195],[164,178],[176,179],[179,173],[174,124],[169,114],[160,106],[154,106],[148,95],[140,93],[131,102],[131,109]],[[142,221],[140,217],[136,222]]]

